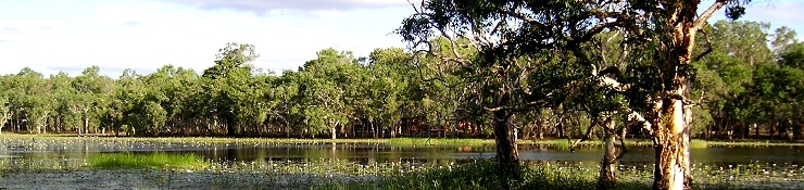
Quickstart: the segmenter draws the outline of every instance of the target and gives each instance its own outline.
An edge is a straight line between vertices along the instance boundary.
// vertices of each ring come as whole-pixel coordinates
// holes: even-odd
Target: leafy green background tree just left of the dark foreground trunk
[[[488,117],[478,112],[482,79],[463,78],[467,71],[450,60],[475,58],[477,49],[467,46],[468,39],[436,37],[427,39],[426,49],[416,50],[410,55],[406,65],[409,87],[405,94],[409,104],[417,107],[409,111],[414,122],[424,122],[429,130],[441,131],[458,122],[473,122],[479,126],[488,123]],[[437,128],[432,128],[432,127]],[[428,134],[429,134],[428,130]]]

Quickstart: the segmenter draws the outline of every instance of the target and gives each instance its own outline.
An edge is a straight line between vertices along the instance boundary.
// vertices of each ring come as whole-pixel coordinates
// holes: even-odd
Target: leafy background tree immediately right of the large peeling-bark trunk
[[[717,118],[716,126],[720,127],[717,131],[728,132],[726,136],[729,138],[744,138],[749,134],[749,126],[757,119],[750,117],[757,113],[752,107],[750,99],[753,97],[748,93],[746,87],[753,81],[755,67],[772,64],[775,60],[767,46],[766,30],[769,27],[767,23],[719,21],[703,28],[709,38],[700,41],[706,41],[704,46],[711,46],[712,52],[692,63],[698,74],[692,94],[702,100],[701,105],[708,113],[694,114],[695,118],[702,119],[693,124],[701,126],[692,128],[693,131],[705,130],[708,135],[711,129],[703,129],[703,126],[711,126],[707,121],[715,122],[711,118]]]

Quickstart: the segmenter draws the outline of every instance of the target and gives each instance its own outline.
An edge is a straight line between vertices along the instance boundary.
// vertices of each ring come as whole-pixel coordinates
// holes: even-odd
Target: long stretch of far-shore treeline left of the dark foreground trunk
[[[443,85],[424,83],[399,48],[368,58],[325,49],[281,75],[250,64],[251,45],[229,43],[201,72],[163,66],[118,78],[23,68],[0,77],[4,130],[129,136],[397,137],[444,134]],[[436,127],[439,126],[439,127]],[[448,129],[449,130],[449,129]],[[474,130],[480,134],[482,130]]]

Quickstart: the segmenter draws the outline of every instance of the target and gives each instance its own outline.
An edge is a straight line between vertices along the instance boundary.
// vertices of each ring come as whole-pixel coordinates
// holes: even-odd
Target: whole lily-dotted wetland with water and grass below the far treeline
[[[490,160],[493,143],[412,143],[417,144],[414,148],[411,143],[397,145],[391,140],[340,139],[332,144],[331,139],[1,135],[4,147],[0,148],[0,187],[14,189],[36,183],[74,189],[499,189],[501,182],[528,189],[601,186],[596,181],[602,153],[599,144],[585,143],[588,145],[573,153],[556,145],[566,140],[542,144],[523,141],[523,178],[501,181],[494,177],[495,164]],[[650,143],[633,144],[632,152],[618,165],[617,185],[610,185],[611,188],[650,188],[653,154],[651,149],[639,149],[639,144]],[[801,189],[803,151],[797,145],[695,148],[693,187]]]

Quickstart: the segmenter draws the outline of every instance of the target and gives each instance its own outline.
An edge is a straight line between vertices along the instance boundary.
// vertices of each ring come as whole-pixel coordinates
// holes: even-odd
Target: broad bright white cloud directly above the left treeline
[[[162,1],[114,2],[79,4],[84,10],[59,15],[0,13],[4,56],[0,74],[29,66],[46,75],[58,71],[77,75],[99,65],[104,74],[117,77],[124,68],[148,73],[166,64],[201,72],[212,66],[215,53],[227,42],[254,45],[261,54],[254,64],[280,72],[297,68],[324,48],[367,55],[374,48],[402,46],[387,34],[411,11],[318,10],[317,15],[305,16],[285,10],[256,15]]]

